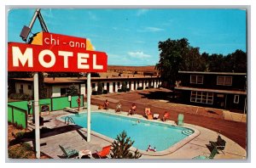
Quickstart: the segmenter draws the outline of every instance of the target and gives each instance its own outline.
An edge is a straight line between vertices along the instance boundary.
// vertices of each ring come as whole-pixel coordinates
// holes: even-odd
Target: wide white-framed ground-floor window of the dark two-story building
[[[190,102],[213,104],[213,92],[191,91]]]

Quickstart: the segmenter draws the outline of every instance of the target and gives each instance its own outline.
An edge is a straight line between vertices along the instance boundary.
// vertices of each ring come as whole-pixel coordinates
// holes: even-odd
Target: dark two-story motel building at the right
[[[185,104],[247,113],[247,74],[179,71],[174,88]]]

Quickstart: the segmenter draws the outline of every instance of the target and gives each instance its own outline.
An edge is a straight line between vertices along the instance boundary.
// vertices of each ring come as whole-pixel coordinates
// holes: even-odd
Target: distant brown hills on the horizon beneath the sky
[[[118,71],[157,71],[154,70],[154,65],[149,66],[120,66],[120,65],[108,65],[108,70],[118,70]]]

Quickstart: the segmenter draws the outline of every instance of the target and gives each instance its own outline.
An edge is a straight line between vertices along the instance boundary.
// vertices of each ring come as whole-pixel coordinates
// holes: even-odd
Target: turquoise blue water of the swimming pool
[[[87,113],[68,116],[73,118],[75,124],[84,128],[87,127]],[[65,117],[67,115],[62,116],[61,119],[65,120]],[[100,112],[91,113],[91,130],[113,139],[120,132],[125,131],[127,136],[135,141],[133,147],[146,150],[148,144],[150,144],[157,151],[170,148],[173,144],[194,133],[189,128],[170,126],[148,120],[140,120],[140,123],[137,123],[137,119]]]

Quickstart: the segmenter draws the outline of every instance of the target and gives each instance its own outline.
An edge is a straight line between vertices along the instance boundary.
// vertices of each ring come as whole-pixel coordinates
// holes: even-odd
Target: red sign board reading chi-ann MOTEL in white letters
[[[86,39],[45,33],[35,42],[36,45],[9,42],[9,71],[107,71],[107,54],[86,50],[90,44]]]

